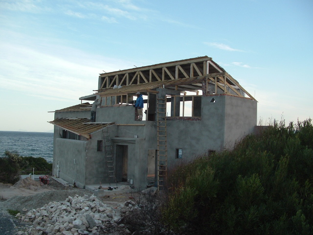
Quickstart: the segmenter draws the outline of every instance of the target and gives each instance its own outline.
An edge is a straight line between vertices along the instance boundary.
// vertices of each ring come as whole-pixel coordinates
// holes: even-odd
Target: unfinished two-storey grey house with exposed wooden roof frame
[[[137,92],[142,121],[135,120]],[[207,56],[101,73],[94,94],[79,99],[50,123],[53,174],[80,188],[124,181],[162,190],[169,167],[233,148],[257,120],[254,97]]]

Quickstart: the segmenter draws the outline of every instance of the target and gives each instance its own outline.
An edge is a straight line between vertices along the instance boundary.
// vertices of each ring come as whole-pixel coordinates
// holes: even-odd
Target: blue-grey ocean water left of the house
[[[52,163],[53,133],[0,131],[0,157],[5,156],[6,150],[23,157],[42,157]]]

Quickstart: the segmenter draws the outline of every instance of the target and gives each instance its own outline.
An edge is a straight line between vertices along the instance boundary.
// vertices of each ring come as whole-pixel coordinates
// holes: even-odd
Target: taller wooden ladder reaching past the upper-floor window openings
[[[157,190],[164,191],[167,177],[166,96],[157,97]]]

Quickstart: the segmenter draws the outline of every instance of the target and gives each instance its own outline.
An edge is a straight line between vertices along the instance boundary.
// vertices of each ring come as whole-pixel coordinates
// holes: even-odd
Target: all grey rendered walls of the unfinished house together
[[[159,90],[162,93],[160,95],[169,92],[166,89]],[[201,98],[201,118],[167,120],[169,166],[181,161],[176,158],[178,148],[182,149],[182,160],[189,161],[208,150],[223,150],[225,145],[226,148],[232,148],[236,140],[254,130],[257,115],[256,101],[229,95]],[[90,111],[60,112],[56,113],[55,117],[89,118]],[[127,145],[127,180],[132,179],[136,188],[146,188],[148,153],[157,149],[156,121],[135,121],[133,106],[100,107],[97,109],[96,121],[116,124],[109,127],[116,176],[121,178],[122,174],[121,153],[116,151],[123,149],[119,145]],[[57,163],[60,162],[60,177],[69,183],[75,180],[76,185],[84,187],[108,182],[105,153],[97,151],[98,140],[103,140],[102,131],[93,133],[89,141],[60,139],[58,127],[55,127],[54,174],[56,174]],[[62,171],[62,167],[67,169],[66,172]]]

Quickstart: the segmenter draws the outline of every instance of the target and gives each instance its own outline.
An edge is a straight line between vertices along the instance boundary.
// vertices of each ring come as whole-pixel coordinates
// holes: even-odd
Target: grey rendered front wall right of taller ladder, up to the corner
[[[188,161],[210,150],[224,147],[224,103],[222,96],[202,96],[201,120],[168,120],[168,164]],[[176,158],[176,149],[182,149],[182,159]]]

